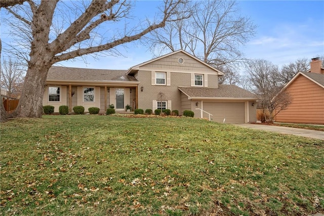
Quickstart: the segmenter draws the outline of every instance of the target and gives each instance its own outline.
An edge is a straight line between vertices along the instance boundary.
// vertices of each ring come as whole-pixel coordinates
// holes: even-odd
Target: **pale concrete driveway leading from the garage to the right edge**
[[[272,131],[277,133],[292,134],[296,136],[304,136],[304,137],[324,140],[324,131],[306,130],[300,128],[290,128],[290,127],[261,125],[261,124],[234,124],[234,125],[257,129],[257,130],[266,130],[266,131]]]

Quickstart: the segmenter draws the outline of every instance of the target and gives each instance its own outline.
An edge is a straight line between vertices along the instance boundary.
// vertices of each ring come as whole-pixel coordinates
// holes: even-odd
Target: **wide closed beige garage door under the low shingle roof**
[[[213,115],[214,122],[245,123],[245,102],[203,102],[203,110]]]

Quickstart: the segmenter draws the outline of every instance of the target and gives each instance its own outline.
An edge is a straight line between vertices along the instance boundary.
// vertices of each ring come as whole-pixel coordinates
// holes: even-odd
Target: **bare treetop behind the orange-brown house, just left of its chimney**
[[[282,66],[279,76],[284,83],[288,83],[298,72],[306,72],[309,69],[307,58],[297,59],[295,62]]]

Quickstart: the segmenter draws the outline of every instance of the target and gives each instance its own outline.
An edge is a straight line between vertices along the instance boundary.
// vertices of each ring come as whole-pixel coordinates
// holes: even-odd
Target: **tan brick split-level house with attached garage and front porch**
[[[235,85],[218,85],[222,71],[178,50],[129,70],[53,66],[49,70],[43,105],[99,107],[110,104],[116,113],[133,109],[191,110],[197,118],[216,122],[256,121],[256,95]]]

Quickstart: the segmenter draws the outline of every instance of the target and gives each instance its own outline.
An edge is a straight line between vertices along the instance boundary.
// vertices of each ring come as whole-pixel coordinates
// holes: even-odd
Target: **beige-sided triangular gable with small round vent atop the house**
[[[183,58],[184,62],[179,63],[179,58]],[[198,66],[198,67],[196,67]],[[196,67],[196,68],[195,68]],[[189,70],[189,71],[201,71],[201,72],[209,72],[209,73],[215,73],[217,75],[224,75],[224,73],[215,67],[207,64],[204,61],[201,61],[197,57],[189,54],[188,52],[184,50],[178,50],[154,59],[151,59],[149,61],[143,62],[141,64],[135,65],[131,67],[128,71],[128,74],[132,73],[133,71],[139,70],[139,69],[149,69],[152,68],[152,70],[163,70],[163,69],[169,69],[169,70]]]

